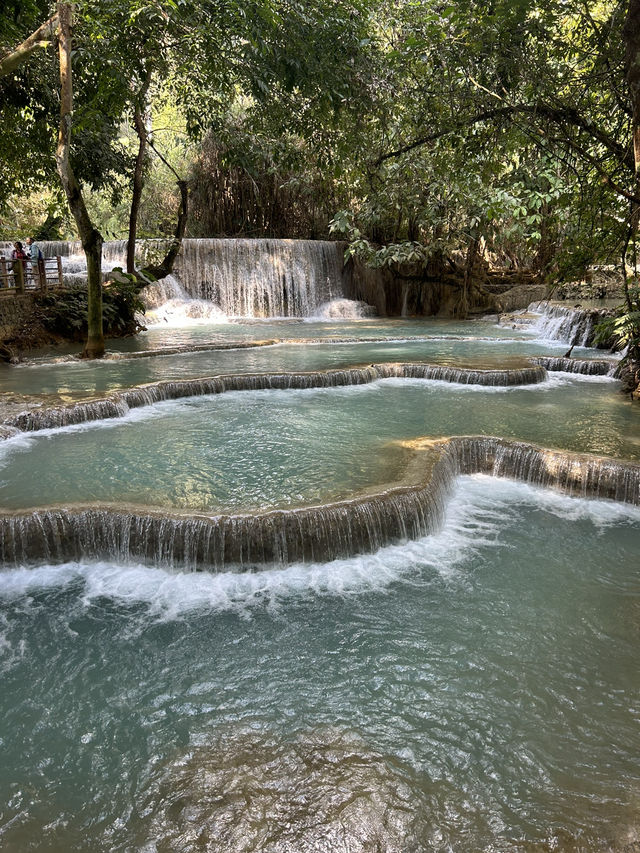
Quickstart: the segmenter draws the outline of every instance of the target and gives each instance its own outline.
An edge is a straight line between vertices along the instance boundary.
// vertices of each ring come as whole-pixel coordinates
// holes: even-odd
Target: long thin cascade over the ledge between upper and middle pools
[[[366,385],[379,379],[431,379],[462,385],[510,387],[543,382],[543,367],[519,370],[472,370],[437,364],[372,364],[342,370],[305,373],[238,373],[202,379],[181,379],[140,385],[108,398],[72,403],[47,409],[33,409],[7,418],[4,426],[23,432],[55,429],[90,421],[123,417],[130,409],[165,400],[223,394],[226,391],[305,390]]]

